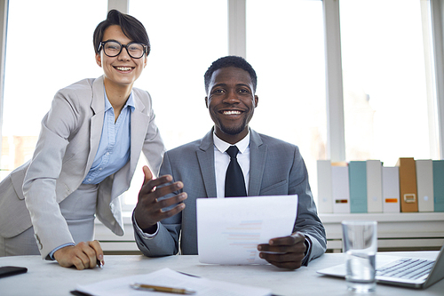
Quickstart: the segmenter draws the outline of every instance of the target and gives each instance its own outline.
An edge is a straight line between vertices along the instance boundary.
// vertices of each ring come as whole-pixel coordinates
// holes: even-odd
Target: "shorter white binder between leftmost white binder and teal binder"
[[[348,166],[331,166],[331,192],[334,213],[350,213]]]

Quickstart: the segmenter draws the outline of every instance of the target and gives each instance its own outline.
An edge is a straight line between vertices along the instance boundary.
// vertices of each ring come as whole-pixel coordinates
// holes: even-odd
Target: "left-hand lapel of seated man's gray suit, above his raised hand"
[[[196,150],[197,160],[201,168],[203,186],[207,197],[216,197],[216,173],[214,172],[213,129],[203,137],[199,149]]]

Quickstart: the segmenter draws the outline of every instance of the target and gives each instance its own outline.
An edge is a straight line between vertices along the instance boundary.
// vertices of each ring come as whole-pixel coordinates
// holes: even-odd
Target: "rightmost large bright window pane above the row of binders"
[[[429,133],[424,3],[340,2],[347,160],[439,157]]]

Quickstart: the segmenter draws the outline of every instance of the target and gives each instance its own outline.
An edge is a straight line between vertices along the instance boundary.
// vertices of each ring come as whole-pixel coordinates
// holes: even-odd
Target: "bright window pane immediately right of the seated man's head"
[[[250,126],[300,148],[313,196],[327,141],[322,13],[321,1],[247,1],[247,60],[259,97]]]

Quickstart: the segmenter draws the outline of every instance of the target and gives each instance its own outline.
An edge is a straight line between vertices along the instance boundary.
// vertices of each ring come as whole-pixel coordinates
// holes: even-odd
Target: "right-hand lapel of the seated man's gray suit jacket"
[[[267,147],[262,143],[258,132],[250,130],[250,185],[249,196],[259,196],[260,185],[266,167]]]

